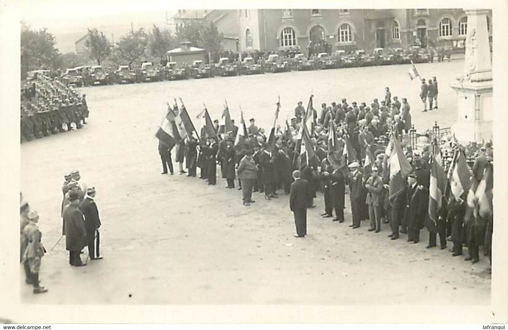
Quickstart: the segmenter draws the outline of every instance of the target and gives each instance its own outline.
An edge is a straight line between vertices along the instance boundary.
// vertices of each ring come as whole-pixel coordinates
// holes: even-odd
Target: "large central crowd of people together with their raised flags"
[[[240,127],[235,126],[227,104],[221,116],[223,124],[214,125],[205,106],[198,115],[204,118],[204,125],[197,139],[193,136],[198,134],[196,128],[182,102],[180,108],[176,104],[173,109],[170,107],[156,137],[169,151],[175,145],[185,149],[188,176],[196,176],[197,166],[201,178],[213,185],[216,165],[220,164],[227,188],[234,188],[238,175],[245,206],[255,202],[252,191],[264,192],[266,200],[277,199],[278,189],[289,194],[294,171],[300,171],[301,179],[308,183],[306,207],[314,207],[316,192],[323,192],[324,218],[333,217],[335,212],[333,220],[344,222],[347,185],[350,226],[354,229],[369,219],[369,232],[379,233],[382,223],[389,223],[392,240],[402,233],[407,234],[408,242],[418,243],[420,230],[427,227],[428,248],[436,246],[439,235],[441,249],[451,239],[454,246],[450,251],[461,255],[466,243],[466,259],[477,262],[478,247],[485,245],[488,251],[492,235],[491,156],[483,147],[470,169],[458,144],[452,159],[441,159],[437,140],[422,156],[416,151],[413,154],[409,147],[404,151],[397,135],[397,113],[391,111],[382,116],[388,111],[383,109],[387,108],[387,101],[391,103],[385,99],[382,105],[373,106],[372,114],[373,109],[365,104],[357,107],[353,102],[349,106],[343,99],[342,105],[325,105],[318,115],[311,95],[306,109],[299,102],[296,118],[287,118],[280,125],[279,100],[268,137],[255,126],[253,118],[247,126],[242,111]],[[404,106],[399,103],[398,107]]]

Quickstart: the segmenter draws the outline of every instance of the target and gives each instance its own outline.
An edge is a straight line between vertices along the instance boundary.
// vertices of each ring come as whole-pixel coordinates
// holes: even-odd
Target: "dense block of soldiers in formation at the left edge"
[[[39,75],[21,92],[21,141],[79,129],[88,115],[86,94]]]

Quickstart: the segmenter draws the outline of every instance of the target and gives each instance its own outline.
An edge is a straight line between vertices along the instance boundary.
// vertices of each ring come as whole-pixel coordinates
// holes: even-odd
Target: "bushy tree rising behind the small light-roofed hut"
[[[194,47],[204,48],[211,58],[217,57],[222,50],[223,34],[210,21],[190,21],[178,28],[176,37],[179,42],[188,41]]]

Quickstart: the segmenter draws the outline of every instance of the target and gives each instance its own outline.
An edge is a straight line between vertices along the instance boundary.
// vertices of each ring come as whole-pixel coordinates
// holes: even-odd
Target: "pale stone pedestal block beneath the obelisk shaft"
[[[492,80],[451,85],[457,92],[458,117],[452,126],[462,144],[492,140]]]

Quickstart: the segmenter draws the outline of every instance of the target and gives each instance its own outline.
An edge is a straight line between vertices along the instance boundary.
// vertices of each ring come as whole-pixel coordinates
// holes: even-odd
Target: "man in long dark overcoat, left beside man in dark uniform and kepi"
[[[79,208],[79,196],[76,191],[70,191],[71,204],[63,209],[63,222],[65,223],[66,249],[69,251],[71,266],[85,266],[79,256],[86,246],[86,228],[83,213]]]

